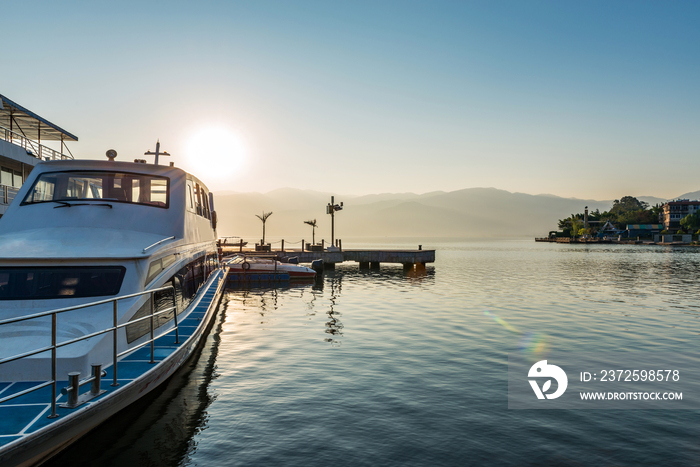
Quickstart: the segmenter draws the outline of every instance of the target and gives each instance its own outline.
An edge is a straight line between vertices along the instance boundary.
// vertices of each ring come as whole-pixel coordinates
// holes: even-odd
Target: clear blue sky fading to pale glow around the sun
[[[214,191],[700,189],[700,3],[35,1],[0,93]]]

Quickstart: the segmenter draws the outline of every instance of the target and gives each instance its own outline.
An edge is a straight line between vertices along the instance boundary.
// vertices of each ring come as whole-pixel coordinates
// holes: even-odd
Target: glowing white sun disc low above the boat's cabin
[[[236,174],[246,158],[246,147],[236,133],[225,127],[206,127],[193,134],[185,147],[188,165],[210,179]]]

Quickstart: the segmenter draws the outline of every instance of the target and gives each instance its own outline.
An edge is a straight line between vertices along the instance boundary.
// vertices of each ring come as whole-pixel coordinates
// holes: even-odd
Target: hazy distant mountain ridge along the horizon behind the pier
[[[700,191],[681,195],[696,199]],[[256,214],[273,212],[267,235],[288,242],[311,240],[316,219],[316,239],[330,241],[330,216],[326,205],[331,193],[281,188],[268,193],[225,192],[215,197],[220,236],[240,236],[257,241],[262,224]],[[637,196],[650,205],[666,202],[653,196]],[[675,199],[675,198],[674,198]],[[381,193],[364,196],[335,195],[344,202],[336,213],[336,237],[487,237],[540,236],[557,228],[557,221],[572,213],[610,209],[613,200],[562,198],[551,194],[529,195],[496,188],[466,188],[451,192]],[[289,243],[288,243],[289,244]]]

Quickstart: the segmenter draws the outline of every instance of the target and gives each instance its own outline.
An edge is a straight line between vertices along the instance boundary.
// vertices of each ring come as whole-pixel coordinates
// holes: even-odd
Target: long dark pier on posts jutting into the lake
[[[338,263],[354,261],[361,269],[378,269],[381,263],[402,264],[404,269],[423,268],[427,263],[435,262],[435,250],[331,250],[302,251],[272,250],[256,252],[238,247],[223,247],[224,255],[244,253],[246,256],[274,256],[278,259],[296,257],[300,263],[323,260],[326,269],[333,269]]]

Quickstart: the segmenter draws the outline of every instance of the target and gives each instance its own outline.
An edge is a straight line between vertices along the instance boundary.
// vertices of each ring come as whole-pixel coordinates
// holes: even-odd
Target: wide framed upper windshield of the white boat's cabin
[[[22,204],[102,200],[167,208],[169,179],[125,172],[47,172],[39,176]]]

